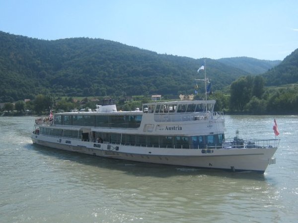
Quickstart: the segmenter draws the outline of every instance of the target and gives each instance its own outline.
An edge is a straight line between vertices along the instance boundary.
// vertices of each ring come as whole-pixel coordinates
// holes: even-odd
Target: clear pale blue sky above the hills
[[[192,58],[283,60],[298,48],[298,0],[0,0],[0,31]]]

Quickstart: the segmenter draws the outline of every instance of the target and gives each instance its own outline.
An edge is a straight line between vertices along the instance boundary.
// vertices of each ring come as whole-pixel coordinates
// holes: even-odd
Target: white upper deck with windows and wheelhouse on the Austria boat
[[[214,112],[215,100],[152,102],[143,105],[142,111],[117,111],[116,106],[97,106],[95,111],[60,112],[54,122],[41,122],[52,126],[89,126],[113,129],[145,129],[147,125],[191,125],[198,121],[224,122],[223,112]],[[205,126],[205,125],[204,125]],[[191,131],[193,127],[185,127]]]

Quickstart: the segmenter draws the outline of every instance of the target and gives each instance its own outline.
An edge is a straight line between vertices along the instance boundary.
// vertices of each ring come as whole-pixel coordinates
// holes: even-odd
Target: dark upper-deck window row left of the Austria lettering
[[[115,127],[115,128],[138,128],[142,115],[55,115],[54,124]]]

